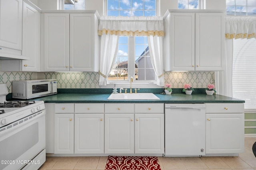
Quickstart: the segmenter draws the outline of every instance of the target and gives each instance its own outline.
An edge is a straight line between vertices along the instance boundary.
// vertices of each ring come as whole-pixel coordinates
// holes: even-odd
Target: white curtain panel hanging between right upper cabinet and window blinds
[[[232,97],[233,39],[225,40],[225,49],[224,70],[215,72],[216,94]]]

